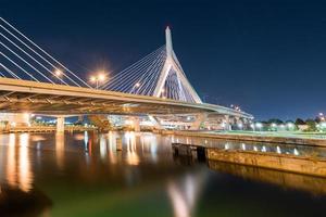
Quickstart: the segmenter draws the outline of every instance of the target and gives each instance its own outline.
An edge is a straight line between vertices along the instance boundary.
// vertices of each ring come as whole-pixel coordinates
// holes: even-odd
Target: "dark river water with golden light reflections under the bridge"
[[[116,138],[123,151],[116,151]],[[325,179],[174,157],[171,142],[177,140],[243,148],[134,132],[0,135],[0,216],[324,215]],[[275,144],[246,143],[254,146],[278,151]],[[324,149],[279,149],[280,154],[325,156]]]

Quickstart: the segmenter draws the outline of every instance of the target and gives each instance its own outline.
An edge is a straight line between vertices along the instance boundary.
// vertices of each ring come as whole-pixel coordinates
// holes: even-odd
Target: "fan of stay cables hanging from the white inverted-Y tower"
[[[185,82],[189,81],[176,56],[173,56],[175,65],[171,64],[167,66],[166,61],[166,47],[163,46],[113,76],[104,86],[102,86],[102,88],[105,90],[133,94],[154,95],[161,74],[166,73],[167,75],[163,80],[164,84],[160,90],[159,97],[178,101],[196,102],[188,90],[190,84],[188,87],[183,84],[180,76],[185,78]]]

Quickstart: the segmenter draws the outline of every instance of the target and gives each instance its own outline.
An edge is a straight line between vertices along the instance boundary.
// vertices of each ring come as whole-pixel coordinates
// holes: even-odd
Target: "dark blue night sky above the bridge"
[[[326,112],[326,2],[0,0],[0,15],[80,76],[164,43],[201,98],[258,119]]]

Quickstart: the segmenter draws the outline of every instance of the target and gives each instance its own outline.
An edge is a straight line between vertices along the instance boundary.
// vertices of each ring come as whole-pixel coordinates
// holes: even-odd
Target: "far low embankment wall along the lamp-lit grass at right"
[[[273,133],[249,131],[162,131],[162,133],[210,139],[326,146],[326,135],[324,136],[313,133]]]

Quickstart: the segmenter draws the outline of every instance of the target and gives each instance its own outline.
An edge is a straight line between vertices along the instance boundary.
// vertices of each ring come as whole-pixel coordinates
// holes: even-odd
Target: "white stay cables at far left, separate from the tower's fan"
[[[77,87],[89,87],[82,78],[0,17],[0,76]]]

